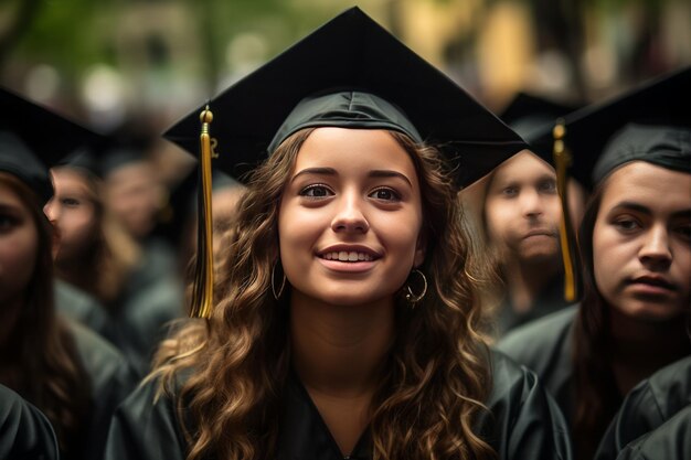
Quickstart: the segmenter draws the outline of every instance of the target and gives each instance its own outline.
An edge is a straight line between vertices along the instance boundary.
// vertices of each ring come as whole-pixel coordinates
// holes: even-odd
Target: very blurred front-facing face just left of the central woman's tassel
[[[161,184],[151,163],[123,165],[108,174],[106,185],[109,208],[135,238],[146,237],[161,206]]]

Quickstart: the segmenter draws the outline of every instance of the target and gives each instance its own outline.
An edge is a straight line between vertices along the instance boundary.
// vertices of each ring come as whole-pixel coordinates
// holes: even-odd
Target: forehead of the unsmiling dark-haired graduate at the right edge
[[[619,202],[642,204],[652,211],[676,212],[691,207],[691,174],[645,161],[634,161],[606,179],[603,207]]]

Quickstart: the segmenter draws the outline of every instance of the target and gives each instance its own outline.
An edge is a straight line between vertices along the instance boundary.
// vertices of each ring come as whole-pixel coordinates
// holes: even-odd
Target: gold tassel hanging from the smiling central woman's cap
[[[199,116],[202,122],[198,181],[196,265],[192,287],[191,318],[211,318],[213,309],[213,222],[211,215],[211,135],[213,114],[209,106]]]

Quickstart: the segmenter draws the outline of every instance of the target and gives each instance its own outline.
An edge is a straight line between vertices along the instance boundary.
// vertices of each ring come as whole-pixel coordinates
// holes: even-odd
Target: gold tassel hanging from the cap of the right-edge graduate
[[[564,300],[575,302],[578,297],[578,256],[575,252],[575,237],[568,211],[568,175],[567,170],[572,158],[564,146],[566,127],[560,118],[552,131],[554,137],[554,165],[556,169],[556,189],[562,202],[562,220],[560,222],[560,242],[562,246],[562,260],[564,263]]]

